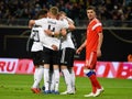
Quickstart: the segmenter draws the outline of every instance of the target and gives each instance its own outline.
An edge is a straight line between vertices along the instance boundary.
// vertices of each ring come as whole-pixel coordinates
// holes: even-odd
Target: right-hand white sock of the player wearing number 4
[[[55,78],[55,91],[58,91],[58,86],[59,86],[59,69],[54,69],[54,78]]]

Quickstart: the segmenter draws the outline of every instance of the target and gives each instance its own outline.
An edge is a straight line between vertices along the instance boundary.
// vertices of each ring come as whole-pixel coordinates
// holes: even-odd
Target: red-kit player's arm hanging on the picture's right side
[[[103,34],[98,33],[99,35],[99,40],[98,40],[98,47],[97,47],[97,56],[100,57],[101,56],[101,45],[102,45],[102,41],[103,41]]]

